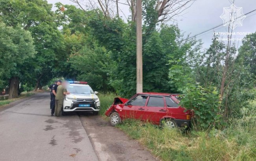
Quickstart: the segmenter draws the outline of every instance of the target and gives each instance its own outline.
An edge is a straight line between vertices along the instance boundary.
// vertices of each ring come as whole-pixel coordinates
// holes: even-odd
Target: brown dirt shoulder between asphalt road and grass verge
[[[86,114],[80,115],[80,120],[100,161],[158,161],[145,147],[102,117]]]

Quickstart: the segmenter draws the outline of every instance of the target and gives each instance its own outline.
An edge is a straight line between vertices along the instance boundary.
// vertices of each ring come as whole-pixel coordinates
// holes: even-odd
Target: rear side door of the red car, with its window
[[[147,120],[159,123],[160,119],[166,115],[166,107],[163,96],[150,96],[147,102]]]

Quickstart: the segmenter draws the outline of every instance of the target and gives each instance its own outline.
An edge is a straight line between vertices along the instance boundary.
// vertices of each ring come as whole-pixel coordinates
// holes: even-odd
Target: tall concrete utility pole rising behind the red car
[[[137,93],[143,92],[142,86],[142,16],[141,0],[136,2],[136,35],[137,35]]]

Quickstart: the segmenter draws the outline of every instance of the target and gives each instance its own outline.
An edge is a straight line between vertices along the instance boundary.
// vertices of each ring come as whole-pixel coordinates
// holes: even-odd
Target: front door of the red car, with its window
[[[138,94],[132,100],[126,102],[123,107],[122,117],[143,120],[147,98],[148,95]]]

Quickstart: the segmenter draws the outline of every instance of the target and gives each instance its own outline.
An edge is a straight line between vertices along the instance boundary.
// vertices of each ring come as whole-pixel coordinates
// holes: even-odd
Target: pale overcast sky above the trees
[[[51,4],[61,2],[63,4],[74,4],[69,0],[47,0]],[[86,0],[84,0],[86,1]],[[223,13],[223,7],[229,7],[230,0],[197,0],[188,8],[182,17],[175,23],[179,28],[185,32],[185,35],[196,35],[202,31],[206,31],[217,25],[223,24],[220,16]],[[236,7],[243,7],[243,14],[249,13],[256,9],[256,0],[235,0]],[[121,6],[124,14],[129,15],[129,10],[126,6]],[[170,22],[173,24],[173,22]],[[198,35],[197,39],[202,39],[203,47],[208,48],[211,44],[213,32],[226,32],[228,27],[221,25],[214,30],[208,31],[204,34]],[[243,20],[243,26],[237,26],[233,32],[252,32],[256,31],[256,11],[247,15]],[[237,37],[244,37],[245,35],[236,35]],[[236,42],[238,43],[238,42]],[[239,42],[239,45],[241,42]]]

